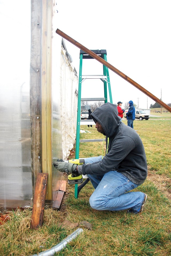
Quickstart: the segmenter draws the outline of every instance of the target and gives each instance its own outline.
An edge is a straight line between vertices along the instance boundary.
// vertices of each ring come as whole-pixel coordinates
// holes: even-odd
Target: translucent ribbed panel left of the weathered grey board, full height
[[[0,207],[32,205],[30,1],[0,2]],[[12,25],[12,26],[11,26]]]

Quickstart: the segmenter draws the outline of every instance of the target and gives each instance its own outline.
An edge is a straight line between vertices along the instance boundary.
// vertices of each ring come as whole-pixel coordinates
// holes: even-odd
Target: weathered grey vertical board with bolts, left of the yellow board
[[[30,130],[33,198],[37,174],[41,165],[41,1],[31,0],[31,52],[30,52]]]

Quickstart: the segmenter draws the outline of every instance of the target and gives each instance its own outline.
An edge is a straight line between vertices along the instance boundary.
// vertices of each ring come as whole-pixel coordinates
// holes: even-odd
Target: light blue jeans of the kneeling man
[[[85,164],[101,161],[102,156],[85,158]],[[87,175],[95,191],[89,202],[95,210],[121,211],[132,208],[138,210],[143,201],[144,193],[129,192],[138,185],[126,178],[122,173],[109,171],[104,175]],[[129,192],[129,193],[126,193]]]

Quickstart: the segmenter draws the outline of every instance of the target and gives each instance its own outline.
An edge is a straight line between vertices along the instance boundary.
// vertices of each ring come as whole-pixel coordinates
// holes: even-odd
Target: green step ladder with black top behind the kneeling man
[[[107,61],[107,52],[106,50],[91,50],[95,54],[102,57],[102,59]],[[112,102],[112,93],[111,93],[111,86],[110,86],[110,79],[109,79],[109,71],[106,66],[103,65],[103,75],[82,75],[82,65],[83,65],[83,59],[93,59],[90,55],[88,55],[86,52],[80,50],[80,67],[79,67],[79,85],[78,85],[78,110],[77,110],[77,130],[76,130],[76,150],[75,150],[75,158],[79,159],[79,144],[80,142],[92,142],[92,141],[103,141],[103,139],[94,139],[94,140],[80,140],[80,123],[82,123],[82,120],[80,120],[81,117],[81,101],[104,101],[104,103],[107,103],[107,89],[108,89],[108,95],[110,98],[110,103]],[[81,85],[82,82],[86,79],[100,79],[104,84],[104,97],[103,98],[81,98]],[[78,194],[83,188],[89,179],[87,178],[86,181],[84,181],[81,185],[78,186],[78,184],[75,184],[75,198],[78,198]]]

